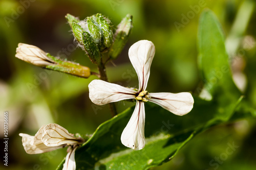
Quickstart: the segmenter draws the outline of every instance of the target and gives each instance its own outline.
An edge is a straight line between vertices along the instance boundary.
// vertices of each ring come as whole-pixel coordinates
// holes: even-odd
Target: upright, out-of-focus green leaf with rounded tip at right
[[[241,93],[232,80],[223,30],[210,10],[205,10],[200,18],[198,48],[204,89],[219,109],[215,117],[225,121],[234,109],[230,104],[238,101]]]

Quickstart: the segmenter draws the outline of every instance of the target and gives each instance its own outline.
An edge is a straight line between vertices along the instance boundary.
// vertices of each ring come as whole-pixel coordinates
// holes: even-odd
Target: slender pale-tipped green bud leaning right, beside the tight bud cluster
[[[109,50],[109,55],[111,59],[116,59],[122,52],[123,47],[126,44],[133,28],[132,19],[133,16],[127,14],[117,26],[117,30],[114,35],[114,42]]]

